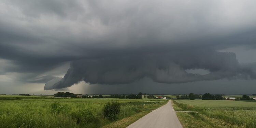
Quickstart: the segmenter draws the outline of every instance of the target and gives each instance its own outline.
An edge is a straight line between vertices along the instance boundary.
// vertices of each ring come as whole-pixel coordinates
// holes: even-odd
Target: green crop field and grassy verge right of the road
[[[174,100],[184,128],[255,128],[256,101]],[[198,113],[196,113],[196,112]]]

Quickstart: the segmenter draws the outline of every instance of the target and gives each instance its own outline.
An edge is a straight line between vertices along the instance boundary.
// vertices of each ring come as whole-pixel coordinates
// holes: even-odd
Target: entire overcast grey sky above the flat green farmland
[[[255,0],[2,0],[0,93],[256,93]]]

